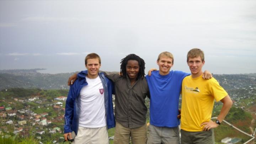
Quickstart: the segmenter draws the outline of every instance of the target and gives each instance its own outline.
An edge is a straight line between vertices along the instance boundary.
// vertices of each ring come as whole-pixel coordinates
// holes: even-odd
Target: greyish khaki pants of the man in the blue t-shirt
[[[148,144],[180,144],[178,127],[157,127],[149,125]]]

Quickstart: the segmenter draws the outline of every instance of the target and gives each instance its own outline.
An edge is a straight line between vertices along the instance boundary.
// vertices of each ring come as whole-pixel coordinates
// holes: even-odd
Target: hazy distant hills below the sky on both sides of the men
[[[37,70],[44,69],[16,69],[0,70],[0,90],[14,87],[39,89],[69,89],[67,81],[74,73],[43,74]],[[221,74],[213,75],[224,89],[239,89],[242,87],[256,87],[256,73],[252,74]]]

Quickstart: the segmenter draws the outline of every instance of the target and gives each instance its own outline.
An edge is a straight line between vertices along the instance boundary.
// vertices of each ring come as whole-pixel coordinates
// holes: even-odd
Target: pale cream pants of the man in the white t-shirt
[[[107,127],[78,127],[78,135],[72,144],[109,144]]]

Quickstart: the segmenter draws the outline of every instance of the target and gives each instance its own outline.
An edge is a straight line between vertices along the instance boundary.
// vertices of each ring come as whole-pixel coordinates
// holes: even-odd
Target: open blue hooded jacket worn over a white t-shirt
[[[80,114],[80,91],[83,86],[88,85],[85,76],[87,75],[87,70],[81,71],[77,75],[77,80],[73,85],[70,86],[68,98],[66,100],[65,107],[65,124],[64,133],[69,133],[74,131],[77,135],[78,125],[79,125],[79,114]],[[115,127],[115,119],[113,112],[112,94],[114,91],[114,86],[111,80],[106,78],[103,73],[98,74],[100,76],[103,89],[104,89],[104,103],[105,112],[107,118],[107,128]]]

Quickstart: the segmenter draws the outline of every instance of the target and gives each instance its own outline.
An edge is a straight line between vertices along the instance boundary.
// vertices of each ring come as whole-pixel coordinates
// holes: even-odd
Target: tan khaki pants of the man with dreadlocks
[[[116,122],[116,131],[114,134],[114,144],[129,144],[132,138],[133,144],[146,144],[147,133],[146,124],[138,128],[126,128]]]

